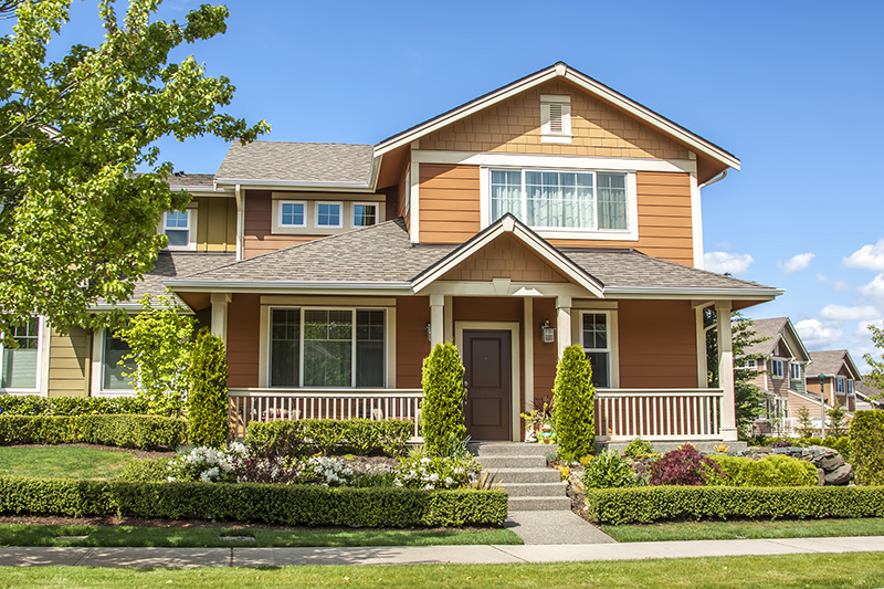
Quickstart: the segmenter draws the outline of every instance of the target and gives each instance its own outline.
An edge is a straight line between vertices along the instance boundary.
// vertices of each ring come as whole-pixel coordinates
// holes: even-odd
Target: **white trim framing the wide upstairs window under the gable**
[[[593,240],[593,241],[639,241],[639,198],[634,170],[580,169],[580,168],[545,168],[538,166],[482,166],[480,167],[480,215],[482,229],[488,227],[491,219],[491,172],[492,170],[522,171],[522,186],[525,187],[526,171],[556,172],[614,172],[627,176],[627,229],[582,229],[582,228],[535,228],[532,230],[544,239]],[[598,224],[598,186],[596,192],[596,223]],[[524,200],[524,192],[523,192]]]

